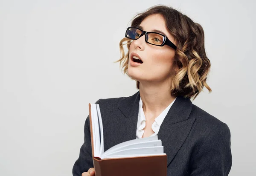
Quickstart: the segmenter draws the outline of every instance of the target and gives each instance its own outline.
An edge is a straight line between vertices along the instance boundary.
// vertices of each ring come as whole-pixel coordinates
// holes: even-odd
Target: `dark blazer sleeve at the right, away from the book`
[[[193,159],[190,176],[227,176],[232,165],[230,146],[230,129],[218,124]]]

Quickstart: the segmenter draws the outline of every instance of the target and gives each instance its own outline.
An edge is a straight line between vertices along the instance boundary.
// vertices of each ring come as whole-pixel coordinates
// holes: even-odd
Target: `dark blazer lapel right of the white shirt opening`
[[[195,122],[195,118],[189,119],[191,110],[192,102],[189,98],[177,97],[160,126],[158,138],[167,154],[167,166],[183,145]]]

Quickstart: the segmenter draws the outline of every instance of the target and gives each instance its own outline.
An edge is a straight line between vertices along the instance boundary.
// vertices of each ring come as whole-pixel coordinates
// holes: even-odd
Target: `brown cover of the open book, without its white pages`
[[[93,127],[89,104],[93,165],[96,176],[166,176],[167,155],[100,159],[94,157]]]

